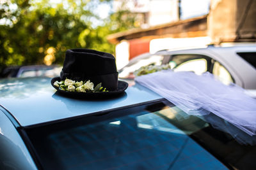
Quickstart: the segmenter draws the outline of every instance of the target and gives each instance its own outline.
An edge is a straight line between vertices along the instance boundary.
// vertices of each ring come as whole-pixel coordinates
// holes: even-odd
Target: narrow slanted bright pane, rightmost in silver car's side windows
[[[215,61],[212,69],[212,74],[218,76],[219,80],[225,85],[229,85],[230,83],[234,83],[230,73],[227,69],[220,64],[220,62]]]

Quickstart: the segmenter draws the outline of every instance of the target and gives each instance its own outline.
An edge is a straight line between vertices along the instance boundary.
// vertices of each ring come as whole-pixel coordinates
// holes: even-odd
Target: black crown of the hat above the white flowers
[[[115,57],[110,53],[90,49],[70,49],[66,52],[61,80],[90,80],[95,85],[102,83],[109,90],[118,87]]]

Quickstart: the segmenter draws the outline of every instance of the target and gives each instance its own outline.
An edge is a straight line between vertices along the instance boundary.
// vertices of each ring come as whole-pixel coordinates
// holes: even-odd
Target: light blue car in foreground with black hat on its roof
[[[0,80],[0,169],[255,169],[255,136],[214,129],[141,85],[69,98],[51,78]],[[230,131],[231,131],[230,130]]]

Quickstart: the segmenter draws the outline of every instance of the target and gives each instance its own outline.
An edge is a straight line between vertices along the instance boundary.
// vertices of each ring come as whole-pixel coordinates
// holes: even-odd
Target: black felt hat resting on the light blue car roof
[[[101,83],[106,88],[105,92],[72,92],[61,90],[54,85],[56,81],[65,79],[74,81],[93,82],[94,85]],[[128,87],[128,83],[118,80],[115,57],[110,53],[99,52],[84,48],[67,50],[63,69],[59,77],[52,78],[52,87],[62,94],[71,96],[115,96],[121,94]]]

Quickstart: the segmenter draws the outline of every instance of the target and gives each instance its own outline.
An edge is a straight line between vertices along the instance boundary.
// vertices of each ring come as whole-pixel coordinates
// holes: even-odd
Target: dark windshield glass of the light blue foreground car
[[[44,169],[250,169],[256,150],[167,101],[24,132]]]

